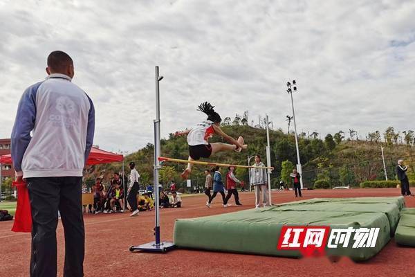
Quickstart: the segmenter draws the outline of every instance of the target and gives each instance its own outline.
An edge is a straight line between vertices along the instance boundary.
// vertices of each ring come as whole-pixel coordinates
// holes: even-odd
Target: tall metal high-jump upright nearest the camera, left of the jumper
[[[156,217],[154,235],[156,236],[156,245],[160,245],[160,211],[158,204],[160,195],[158,191],[158,170],[160,169],[160,161],[158,161],[158,157],[160,157],[160,90],[158,88],[159,81],[160,80],[158,76],[158,66],[156,66],[156,120],[154,120],[154,192],[156,193],[156,201],[154,202],[154,205],[156,206],[156,211],[154,213]]]

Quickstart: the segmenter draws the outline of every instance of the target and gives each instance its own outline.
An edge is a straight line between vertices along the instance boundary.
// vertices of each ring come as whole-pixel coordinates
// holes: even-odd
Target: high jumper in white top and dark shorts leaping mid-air
[[[199,111],[208,115],[208,119],[196,125],[196,127],[183,132],[176,132],[176,136],[187,134],[187,144],[189,144],[189,161],[196,161],[200,158],[209,158],[212,154],[221,151],[236,151],[241,152],[242,149],[246,149],[248,145],[243,144],[243,137],[239,136],[237,140],[225,134],[219,125],[221,124],[221,116],[214,111],[214,106],[208,102],[204,102],[199,105]],[[223,139],[229,141],[232,144],[227,143],[209,143],[209,139],[218,134]],[[187,179],[187,176],[192,172],[192,163],[187,163],[187,168],[181,174],[183,179]]]

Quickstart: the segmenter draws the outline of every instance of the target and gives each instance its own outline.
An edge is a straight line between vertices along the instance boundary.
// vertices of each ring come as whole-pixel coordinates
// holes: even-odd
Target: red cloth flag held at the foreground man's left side
[[[18,197],[12,231],[30,233],[32,231],[32,211],[30,210],[28,186],[26,182],[16,183],[15,181],[13,186],[17,188]]]

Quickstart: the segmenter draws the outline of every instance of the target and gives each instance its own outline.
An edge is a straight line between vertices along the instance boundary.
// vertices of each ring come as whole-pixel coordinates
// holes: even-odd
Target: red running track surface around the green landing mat
[[[305,190],[303,199],[314,197],[397,196],[400,189]],[[183,198],[183,208],[160,210],[161,236],[172,240],[176,218],[199,217],[253,208],[255,196],[240,193],[243,206],[223,208],[219,197],[212,208],[206,196]],[[233,198],[232,198],[233,199]],[[297,200],[292,191],[273,192],[273,203]],[[232,200],[231,200],[232,201]],[[405,197],[415,207],[415,197]],[[233,203],[233,202],[232,202]],[[131,253],[131,245],[154,240],[154,211],[129,217],[129,213],[85,215],[85,276],[415,276],[415,248],[398,247],[392,239],[374,258],[354,263],[347,258],[330,262],[326,258],[277,258],[177,249],[165,254]],[[12,233],[12,222],[0,222],[0,277],[28,276],[30,234]],[[62,276],[64,238],[57,230],[58,276]]]

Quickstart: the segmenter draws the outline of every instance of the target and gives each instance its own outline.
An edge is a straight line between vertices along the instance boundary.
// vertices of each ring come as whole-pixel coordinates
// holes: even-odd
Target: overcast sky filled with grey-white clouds
[[[222,118],[248,110],[286,130],[293,79],[299,131],[414,129],[414,15],[413,0],[0,0],[0,138],[58,49],[107,150],[152,142],[156,65],[163,136],[203,120],[205,100]]]

